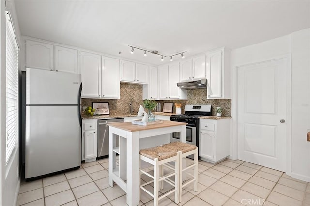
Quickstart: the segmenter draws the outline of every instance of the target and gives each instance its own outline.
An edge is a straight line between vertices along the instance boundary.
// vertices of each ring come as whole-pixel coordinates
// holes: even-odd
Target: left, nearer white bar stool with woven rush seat
[[[145,172],[144,170],[141,169],[141,160],[154,165],[154,176],[150,175],[148,172]],[[173,168],[170,165],[168,165],[167,164],[168,162],[175,162],[175,167]],[[180,153],[172,149],[169,149],[167,147],[157,146],[157,147],[140,150],[140,189],[144,190],[146,193],[148,193],[154,198],[154,206],[158,206],[159,200],[161,200],[162,198],[166,197],[167,195],[173,192],[175,192],[175,203],[176,204],[179,203],[179,183],[180,183],[179,164],[180,164]],[[162,170],[161,168],[163,166],[171,169],[173,172],[163,176],[163,174],[161,173],[161,170]],[[141,185],[141,173],[151,177],[153,180]],[[172,176],[175,176],[175,181],[169,178]],[[165,181],[171,184],[174,187],[174,190],[166,192],[164,195],[158,197],[159,183],[162,181]],[[144,186],[152,182],[154,182],[154,193],[153,194],[144,188]]]

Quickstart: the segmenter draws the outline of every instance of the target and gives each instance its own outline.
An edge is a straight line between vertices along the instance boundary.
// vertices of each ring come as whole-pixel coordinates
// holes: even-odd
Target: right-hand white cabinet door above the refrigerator
[[[55,70],[78,73],[78,50],[55,46]]]

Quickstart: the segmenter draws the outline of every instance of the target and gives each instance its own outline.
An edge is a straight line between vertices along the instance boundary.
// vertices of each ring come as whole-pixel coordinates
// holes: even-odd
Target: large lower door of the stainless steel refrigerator
[[[81,164],[78,109],[78,106],[26,106],[26,179]]]

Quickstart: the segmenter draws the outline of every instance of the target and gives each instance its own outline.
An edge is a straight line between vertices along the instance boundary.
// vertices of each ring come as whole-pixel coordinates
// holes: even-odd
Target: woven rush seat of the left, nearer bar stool
[[[158,158],[158,160],[160,161],[160,160],[164,160],[164,159],[176,156],[177,153],[175,150],[172,150],[168,147],[157,146],[157,147],[152,147],[152,148],[147,148],[147,149],[141,149],[140,155],[143,155],[152,160],[154,160],[155,158]]]

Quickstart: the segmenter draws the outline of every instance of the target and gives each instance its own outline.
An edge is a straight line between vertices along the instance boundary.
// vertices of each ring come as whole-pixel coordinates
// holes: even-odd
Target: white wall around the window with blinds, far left
[[[0,205],[2,206],[14,206],[16,205],[20,178],[18,177],[18,164],[19,164],[19,148],[18,142],[16,150],[13,152],[12,157],[10,158],[7,165],[5,165],[5,142],[6,142],[6,41],[5,41],[5,9],[7,9],[11,13],[11,17],[13,20],[13,24],[15,27],[17,41],[21,46],[20,42],[20,31],[17,22],[16,10],[14,1],[7,1],[7,5],[5,8],[5,1],[0,1],[0,44],[1,44],[1,54],[0,54],[0,62],[1,62],[1,78],[0,78],[0,87],[1,87],[1,152],[0,152],[0,166],[1,166],[1,192],[0,192]],[[19,68],[20,69],[20,68]]]

